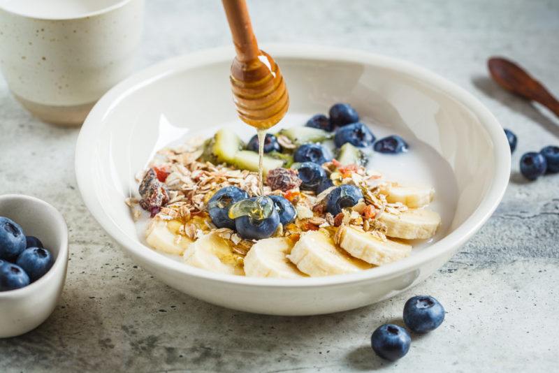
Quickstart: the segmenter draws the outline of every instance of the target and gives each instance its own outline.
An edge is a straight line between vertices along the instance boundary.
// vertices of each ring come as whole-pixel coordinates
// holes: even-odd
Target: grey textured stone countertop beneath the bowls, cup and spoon
[[[559,95],[559,1],[254,0],[249,6],[261,42],[335,45],[407,59],[479,97],[519,139],[498,210],[444,268],[382,304],[310,317],[208,305],[124,256],[80,198],[73,168],[78,129],[34,119],[0,79],[0,193],[55,205],[68,221],[71,249],[55,312],[27,335],[0,340],[0,370],[556,371],[559,175],[524,182],[518,159],[559,144],[559,119],[496,87],[486,59],[516,59]],[[219,1],[147,0],[138,69],[227,43]],[[379,360],[370,333],[401,317],[405,300],[421,293],[446,307],[442,327],[414,338],[398,363]]]

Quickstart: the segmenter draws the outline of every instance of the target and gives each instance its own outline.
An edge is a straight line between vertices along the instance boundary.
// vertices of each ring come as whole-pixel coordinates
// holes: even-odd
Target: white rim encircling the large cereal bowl
[[[423,80],[424,82],[428,82],[430,85],[437,87],[437,89],[440,89],[442,92],[446,92],[453,99],[465,105],[478,117],[481,126],[486,129],[493,142],[495,172],[493,174],[493,180],[491,180],[491,185],[488,186],[486,194],[480,201],[479,206],[451,233],[413,256],[379,266],[373,270],[327,277],[268,279],[219,274],[180,263],[157,253],[157,251],[150,249],[137,239],[131,239],[131,237],[122,232],[117,224],[110,219],[108,214],[105,213],[103,206],[97,203],[94,186],[89,182],[91,177],[94,176],[92,173],[94,169],[92,168],[92,162],[96,156],[95,142],[92,141],[92,139],[97,138],[97,134],[101,131],[102,126],[99,125],[99,122],[103,121],[107,113],[121,101],[123,96],[136,91],[136,89],[141,89],[146,85],[150,85],[151,82],[164,78],[167,75],[172,75],[173,73],[190,68],[201,67],[205,64],[231,61],[233,58],[232,56],[234,56],[233,47],[217,47],[167,59],[131,75],[129,78],[110,89],[110,91],[96,103],[82,125],[75,148],[75,175],[78,180],[78,188],[80,189],[80,193],[82,194],[82,198],[89,212],[92,213],[96,221],[101,224],[103,229],[105,229],[126,252],[133,256],[140,256],[143,261],[150,263],[150,265],[157,265],[168,271],[180,272],[183,275],[217,281],[222,284],[269,288],[342,286],[361,281],[397,277],[402,273],[418,268],[428,261],[432,261],[434,258],[437,258],[437,256],[451,253],[463,245],[479,230],[479,228],[481,228],[487,219],[491,217],[491,214],[493,214],[500,203],[509,182],[511,154],[502,126],[485,105],[472,94],[458,87],[455,83],[442,78],[440,75],[428,71],[426,68],[393,57],[372,54],[361,50],[317,45],[266,44],[261,46],[263,50],[270,52],[275,58],[279,59],[299,58],[312,59],[313,61],[335,61],[337,63],[362,63],[405,73],[419,80]]]

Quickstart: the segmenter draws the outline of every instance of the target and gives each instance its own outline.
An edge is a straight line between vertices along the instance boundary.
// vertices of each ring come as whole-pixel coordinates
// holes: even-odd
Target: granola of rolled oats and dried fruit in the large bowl
[[[203,145],[183,145],[166,148],[157,154],[150,168],[138,177],[141,200],[129,198],[134,217],[140,217],[136,205],[139,202],[152,217],[166,221],[177,221],[178,233],[194,240],[201,235],[214,232],[230,240],[233,249],[245,255],[254,241],[244,240],[228,228],[217,228],[206,212],[206,203],[213,193],[225,186],[238,186],[250,196],[256,196],[258,173],[238,170],[225,164],[215,165],[203,161]],[[270,170],[264,187],[264,194],[284,196],[296,209],[296,220],[286,226],[279,225],[275,236],[298,240],[305,231],[327,231],[339,240],[340,227],[351,226],[359,231],[369,232],[381,240],[386,240],[386,226],[378,220],[381,214],[400,214],[407,210],[402,203],[388,203],[382,193],[387,183],[382,175],[351,164],[342,166],[333,160],[322,166],[334,186],[316,195],[312,191],[301,191],[296,170],[277,168]],[[351,209],[344,209],[333,216],[326,212],[326,197],[335,186],[353,184],[361,189],[363,200]],[[154,213],[155,212],[155,213]]]

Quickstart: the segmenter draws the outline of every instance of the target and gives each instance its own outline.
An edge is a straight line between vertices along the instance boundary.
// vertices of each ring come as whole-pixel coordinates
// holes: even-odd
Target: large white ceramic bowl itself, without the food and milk
[[[333,277],[263,279],[206,272],[158,254],[138,239],[124,198],[155,149],[235,119],[228,81],[232,48],[164,61],[112,89],[78,138],[76,175],[99,224],[146,270],[196,298],[247,312],[309,315],[389,298],[426,279],[491,216],[509,180],[510,150],[484,105],[453,83],[412,64],[312,45],[268,45],[286,78],[291,112],[327,112],[349,102],[379,126],[408,131],[449,162],[458,184],[456,214],[442,240],[402,261]],[[411,131],[411,132],[409,132]]]

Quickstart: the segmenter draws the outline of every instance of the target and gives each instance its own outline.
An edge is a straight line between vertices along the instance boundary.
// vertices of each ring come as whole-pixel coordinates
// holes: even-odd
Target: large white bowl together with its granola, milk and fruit
[[[233,309],[338,312],[426,279],[491,216],[510,152],[476,98],[388,57],[265,49],[289,110],[259,136],[231,101],[231,48],[147,68],[87,118],[82,197],[145,270]]]

